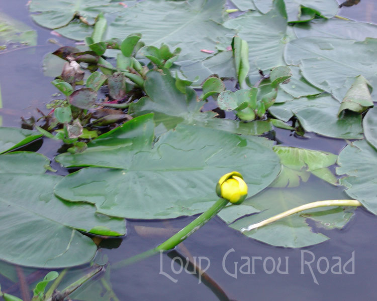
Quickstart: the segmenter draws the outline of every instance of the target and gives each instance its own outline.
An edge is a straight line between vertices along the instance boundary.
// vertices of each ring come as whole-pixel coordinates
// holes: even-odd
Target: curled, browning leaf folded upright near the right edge
[[[373,100],[370,96],[369,87],[369,83],[362,75],[357,76],[340,103],[338,115],[344,110],[362,113],[367,108],[372,107]]]

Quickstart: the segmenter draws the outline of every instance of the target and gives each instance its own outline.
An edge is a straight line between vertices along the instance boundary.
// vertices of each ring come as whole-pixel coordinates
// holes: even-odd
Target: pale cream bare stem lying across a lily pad
[[[327,200],[327,201],[317,201],[317,202],[312,202],[308,203],[305,205],[301,205],[298,207],[295,207],[293,209],[287,210],[285,212],[279,213],[277,215],[274,215],[270,218],[267,218],[259,223],[252,224],[248,226],[247,228],[242,228],[241,232],[246,232],[246,231],[251,231],[253,229],[257,229],[260,227],[263,227],[265,225],[268,225],[274,221],[277,221],[279,219],[282,219],[284,217],[290,216],[295,213],[299,213],[304,210],[308,209],[313,209],[313,208],[319,208],[319,207],[330,207],[330,206],[353,206],[353,207],[358,207],[361,206],[361,203],[356,200]]]

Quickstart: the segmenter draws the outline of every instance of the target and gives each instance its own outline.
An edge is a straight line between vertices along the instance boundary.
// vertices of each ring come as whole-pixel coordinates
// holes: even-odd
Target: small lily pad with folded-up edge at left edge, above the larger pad
[[[18,127],[0,127],[0,154],[24,146],[43,135],[30,129]]]

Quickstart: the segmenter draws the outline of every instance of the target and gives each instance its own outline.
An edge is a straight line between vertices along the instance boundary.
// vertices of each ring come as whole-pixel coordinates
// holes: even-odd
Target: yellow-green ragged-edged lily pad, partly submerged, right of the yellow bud
[[[271,184],[272,187],[297,187],[301,181],[308,181],[311,174],[330,184],[337,184],[338,179],[328,167],[336,163],[338,156],[290,146],[275,145],[273,150],[279,156],[283,168]]]

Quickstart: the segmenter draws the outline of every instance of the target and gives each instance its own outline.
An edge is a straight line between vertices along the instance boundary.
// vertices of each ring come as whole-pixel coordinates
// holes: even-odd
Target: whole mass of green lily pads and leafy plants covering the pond
[[[225,0],[32,0],[37,24],[86,45],[54,52],[64,62],[52,81],[62,98],[49,103],[39,131],[0,127],[1,221],[12,225],[0,235],[1,259],[88,262],[97,246],[83,233],[122,236],[126,218],[202,213],[218,200],[219,176],[234,170],[248,198],[219,217],[238,231],[345,194],[377,214],[376,26],[333,18],[333,0],[234,4],[246,12],[228,14]],[[206,109],[211,102],[216,109]],[[233,119],[219,118],[226,113]],[[360,141],[338,158],[256,136],[274,127]],[[44,156],[11,153],[42,135],[66,146],[54,160],[79,170],[57,176]],[[245,235],[304,247],[328,239],[306,219],[341,228],[352,215],[315,209]]]

